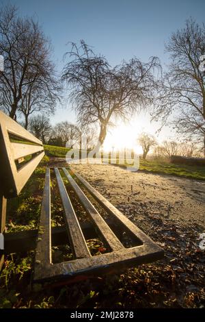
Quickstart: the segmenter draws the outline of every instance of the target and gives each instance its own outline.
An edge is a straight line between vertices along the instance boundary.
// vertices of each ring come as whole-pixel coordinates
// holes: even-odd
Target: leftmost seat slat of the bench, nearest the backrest
[[[36,263],[46,267],[51,260],[51,184],[50,169],[46,169],[36,247]]]

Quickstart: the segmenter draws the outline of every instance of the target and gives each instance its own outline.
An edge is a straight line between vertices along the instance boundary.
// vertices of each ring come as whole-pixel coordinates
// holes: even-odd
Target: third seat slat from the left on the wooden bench
[[[90,214],[92,220],[98,227],[99,232],[102,234],[102,237],[105,238],[105,240],[109,244],[109,247],[111,247],[113,251],[124,249],[124,246],[122,245],[122,243],[120,243],[120,240],[115,236],[115,234],[112,232],[109,225],[107,225],[104,219],[102,219],[96,208],[94,208],[90,200],[87,199],[87,197],[85,196],[81,188],[79,188],[74,179],[72,179],[70,173],[68,173],[68,171],[65,168],[63,168],[63,170],[72,188],[74,189],[75,193],[77,194],[81,203],[83,204],[85,210]]]

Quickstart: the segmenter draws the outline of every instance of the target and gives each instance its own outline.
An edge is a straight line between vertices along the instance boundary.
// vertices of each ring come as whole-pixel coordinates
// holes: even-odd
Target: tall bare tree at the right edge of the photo
[[[166,50],[171,63],[155,101],[154,117],[166,121],[174,112],[174,127],[184,137],[200,140],[205,156],[205,25],[189,19],[172,34]]]

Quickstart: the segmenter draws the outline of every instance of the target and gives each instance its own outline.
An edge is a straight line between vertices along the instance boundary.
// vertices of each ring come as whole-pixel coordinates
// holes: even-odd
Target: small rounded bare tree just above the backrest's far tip
[[[42,140],[42,143],[46,143],[49,139],[51,132],[51,124],[48,117],[44,114],[37,114],[32,116],[29,122],[29,131],[33,133],[36,138]]]

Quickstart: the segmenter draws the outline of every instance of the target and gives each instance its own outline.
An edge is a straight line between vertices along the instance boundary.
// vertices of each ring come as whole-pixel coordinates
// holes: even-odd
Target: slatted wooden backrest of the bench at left
[[[43,156],[42,142],[0,111],[0,188],[5,198],[20,193]]]

